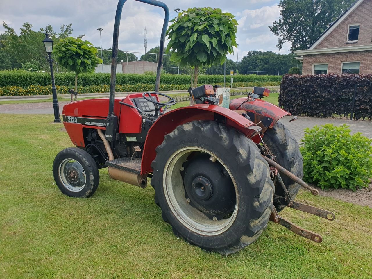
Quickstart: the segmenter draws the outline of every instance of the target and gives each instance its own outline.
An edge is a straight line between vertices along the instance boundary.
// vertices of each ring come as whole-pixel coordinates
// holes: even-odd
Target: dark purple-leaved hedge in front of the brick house
[[[355,92],[355,119],[372,118],[372,74],[286,75],[279,106],[294,115],[349,115]]]

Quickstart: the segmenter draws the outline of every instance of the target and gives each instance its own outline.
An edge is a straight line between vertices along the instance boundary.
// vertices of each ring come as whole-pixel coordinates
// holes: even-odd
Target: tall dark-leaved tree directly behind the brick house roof
[[[279,36],[276,47],[291,42],[291,50],[306,49],[354,0],[280,0],[279,20],[269,26]]]

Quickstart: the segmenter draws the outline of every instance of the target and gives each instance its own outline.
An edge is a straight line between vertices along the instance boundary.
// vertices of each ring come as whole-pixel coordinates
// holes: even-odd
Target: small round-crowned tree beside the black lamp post
[[[67,70],[75,72],[75,92],[77,92],[77,75],[94,73],[97,64],[102,63],[101,58],[97,57],[97,52],[92,43],[80,38],[67,37],[60,39],[55,45],[53,49],[55,59]]]

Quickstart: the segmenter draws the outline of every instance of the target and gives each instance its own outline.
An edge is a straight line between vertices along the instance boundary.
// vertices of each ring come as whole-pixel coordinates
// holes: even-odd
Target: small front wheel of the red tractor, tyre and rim
[[[89,198],[99,184],[96,161],[76,147],[65,148],[55,156],[53,176],[61,192],[69,197]]]

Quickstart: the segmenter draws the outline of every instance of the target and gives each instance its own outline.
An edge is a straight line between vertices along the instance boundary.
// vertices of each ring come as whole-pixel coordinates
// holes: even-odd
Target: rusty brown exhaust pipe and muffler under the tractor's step
[[[114,155],[112,154],[112,150],[110,147],[109,142],[106,140],[105,135],[103,135],[103,132],[101,129],[97,129],[98,135],[103,141],[103,144],[105,145],[106,152],[109,155],[109,160],[114,159]],[[116,169],[113,167],[108,167],[109,175],[112,179],[119,180],[131,185],[135,185],[138,187],[141,187],[142,189],[145,189],[147,187],[147,174],[135,174],[130,173],[129,171]]]

